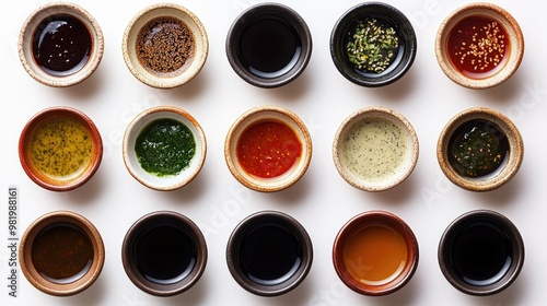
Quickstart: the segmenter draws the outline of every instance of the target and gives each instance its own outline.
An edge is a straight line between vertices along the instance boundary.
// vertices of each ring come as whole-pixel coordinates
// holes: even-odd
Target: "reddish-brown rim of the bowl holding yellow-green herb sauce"
[[[59,117],[68,117],[82,123],[82,126],[84,126],[89,131],[93,143],[93,153],[86,169],[77,178],[68,181],[47,178],[45,175],[39,174],[39,170],[33,166],[31,161],[28,161],[30,157],[27,156],[26,149],[34,130],[37,127],[51,118]],[[91,118],[81,110],[68,106],[48,107],[38,111],[25,123],[19,139],[19,160],[26,175],[38,186],[51,191],[68,191],[81,187],[88,183],[93,175],[95,175],[103,160],[103,140],[93,120],[91,120]]]

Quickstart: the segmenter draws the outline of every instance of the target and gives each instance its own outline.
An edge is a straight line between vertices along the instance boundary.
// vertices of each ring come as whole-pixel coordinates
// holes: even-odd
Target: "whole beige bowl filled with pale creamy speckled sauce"
[[[365,191],[387,190],[405,180],[416,166],[418,151],[410,122],[385,107],[365,107],[350,115],[333,143],[340,176]]]

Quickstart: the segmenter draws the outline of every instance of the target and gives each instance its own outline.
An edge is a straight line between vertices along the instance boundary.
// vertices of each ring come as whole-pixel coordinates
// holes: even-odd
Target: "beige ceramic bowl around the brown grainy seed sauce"
[[[194,37],[194,55],[181,68],[168,73],[158,73],[146,68],[137,57],[139,32],[158,17],[182,21]],[[201,71],[209,52],[209,40],[203,25],[191,11],[174,3],[159,3],[143,9],[129,22],[121,47],[127,68],[139,81],[152,87],[171,89],[185,84]]]

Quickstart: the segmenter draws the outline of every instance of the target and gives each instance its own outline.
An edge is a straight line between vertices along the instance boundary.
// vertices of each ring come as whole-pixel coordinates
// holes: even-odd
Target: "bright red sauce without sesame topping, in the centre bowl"
[[[248,174],[271,178],[289,170],[302,154],[296,133],[280,121],[259,121],[237,141],[237,161]]]

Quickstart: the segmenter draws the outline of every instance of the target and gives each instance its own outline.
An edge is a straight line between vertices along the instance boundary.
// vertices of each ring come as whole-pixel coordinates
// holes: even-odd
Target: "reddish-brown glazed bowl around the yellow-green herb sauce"
[[[31,150],[33,138],[40,127],[59,119],[78,122],[91,138],[91,152],[88,161],[84,161],[78,170],[65,176],[48,174],[40,169]],[[66,139],[66,133],[59,137]],[[82,111],[70,107],[51,107],[36,114],[23,128],[19,140],[19,157],[26,175],[38,186],[54,191],[67,191],[82,186],[96,173],[103,158],[103,141],[95,123]]]

